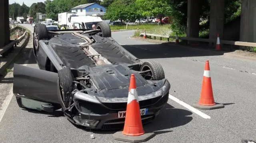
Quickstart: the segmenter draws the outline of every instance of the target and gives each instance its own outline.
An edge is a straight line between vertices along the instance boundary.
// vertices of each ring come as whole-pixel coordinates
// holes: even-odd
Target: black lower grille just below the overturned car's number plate
[[[154,116],[144,115],[144,116],[141,116],[141,119],[142,119],[142,124],[145,124],[152,121],[154,119]],[[124,127],[124,121],[125,121],[125,118],[108,120],[101,126],[101,128],[102,129],[122,129]]]

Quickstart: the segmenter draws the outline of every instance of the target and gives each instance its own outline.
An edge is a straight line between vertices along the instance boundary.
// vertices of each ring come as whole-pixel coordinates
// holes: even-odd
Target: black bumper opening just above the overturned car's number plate
[[[151,99],[148,99],[148,100],[142,100],[142,101],[139,102],[140,108],[155,104],[160,98],[161,98],[161,96],[158,96],[156,98],[151,98]],[[126,107],[127,107],[127,102],[102,103],[102,104],[104,106],[110,108],[110,109],[113,109],[113,110],[125,110]]]

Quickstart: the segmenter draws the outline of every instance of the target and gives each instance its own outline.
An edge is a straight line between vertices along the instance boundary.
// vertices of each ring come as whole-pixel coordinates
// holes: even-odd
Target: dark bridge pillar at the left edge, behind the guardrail
[[[0,0],[0,48],[10,43],[9,0]]]

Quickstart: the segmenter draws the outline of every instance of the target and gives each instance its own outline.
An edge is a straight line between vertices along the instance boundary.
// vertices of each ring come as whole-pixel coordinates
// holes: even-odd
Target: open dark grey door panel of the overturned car
[[[58,73],[14,64],[13,93],[21,98],[29,98],[47,103],[58,103]]]

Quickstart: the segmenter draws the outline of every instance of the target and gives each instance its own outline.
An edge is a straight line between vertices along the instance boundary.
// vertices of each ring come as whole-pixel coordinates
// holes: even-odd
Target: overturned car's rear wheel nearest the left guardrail
[[[33,33],[33,47],[34,53],[36,54],[39,49],[39,41],[42,39],[48,38],[48,32],[46,25],[44,24],[36,24],[34,26],[34,33]]]

